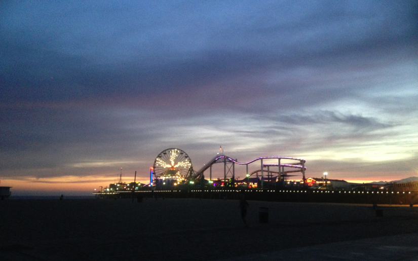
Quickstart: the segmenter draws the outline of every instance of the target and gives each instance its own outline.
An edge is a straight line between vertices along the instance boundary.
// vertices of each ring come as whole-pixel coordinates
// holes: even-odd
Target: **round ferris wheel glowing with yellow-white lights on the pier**
[[[157,178],[184,179],[192,161],[182,150],[167,148],[157,156],[153,167]]]

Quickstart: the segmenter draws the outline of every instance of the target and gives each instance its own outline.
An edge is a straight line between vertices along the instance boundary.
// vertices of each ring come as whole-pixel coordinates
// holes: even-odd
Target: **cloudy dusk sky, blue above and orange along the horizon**
[[[416,10],[407,0],[2,1],[0,185],[90,195],[121,168],[123,181],[137,171],[146,182],[167,148],[200,169],[220,146],[240,162],[305,159],[307,177],[418,176]]]

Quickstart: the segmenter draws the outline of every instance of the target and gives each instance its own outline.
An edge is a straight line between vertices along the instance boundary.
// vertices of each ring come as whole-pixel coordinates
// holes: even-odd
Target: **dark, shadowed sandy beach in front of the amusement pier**
[[[300,247],[403,235],[418,238],[418,207],[238,200],[6,200],[1,260],[244,260]],[[269,208],[260,223],[259,207]],[[284,253],[284,252],[283,252]],[[418,253],[418,251],[417,251]],[[238,258],[238,259],[237,259]]]

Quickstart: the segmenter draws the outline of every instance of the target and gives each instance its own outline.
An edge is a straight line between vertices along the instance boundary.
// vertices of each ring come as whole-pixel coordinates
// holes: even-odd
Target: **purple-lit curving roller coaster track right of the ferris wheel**
[[[234,160],[234,159],[232,159],[228,156],[217,155],[213,159],[211,159],[207,164],[205,164],[201,169],[196,171],[195,174],[193,175],[193,178],[195,178],[195,179],[199,178],[205,170],[207,170],[213,164],[216,164],[216,163],[229,162],[229,163],[235,163],[235,164],[239,164],[239,165],[248,165],[250,163],[253,163],[253,162],[258,161],[258,160],[263,160],[263,159],[278,159],[278,160],[279,159],[284,159],[284,160],[298,161],[298,164],[280,164],[280,165],[279,164],[262,164],[262,165],[263,165],[263,167],[264,166],[280,166],[280,167],[297,168],[298,170],[290,170],[290,171],[288,170],[288,171],[285,171],[283,173],[299,172],[300,171],[300,172],[303,173],[303,176],[305,176],[306,167],[304,165],[306,163],[306,160],[304,160],[304,159],[293,158],[293,157],[269,156],[269,157],[258,157],[258,158],[255,158],[255,159],[251,160],[251,161],[248,161],[248,162],[238,162],[238,161],[236,161],[236,160]],[[261,171],[261,170],[259,170],[259,171]]]

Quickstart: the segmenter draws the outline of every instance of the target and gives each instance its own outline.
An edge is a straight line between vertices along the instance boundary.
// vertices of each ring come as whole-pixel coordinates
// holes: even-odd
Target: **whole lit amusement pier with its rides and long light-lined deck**
[[[223,163],[223,179],[212,179],[214,164]],[[418,182],[400,183],[392,187],[375,188],[374,184],[349,183],[345,180],[333,180],[334,185],[319,187],[324,181],[305,177],[306,161],[293,157],[268,156],[258,157],[248,162],[239,162],[226,155],[216,155],[198,171],[194,171],[192,160],[178,148],[167,148],[157,155],[150,168],[147,184],[122,182],[122,169],[118,183],[109,184],[103,191],[95,192],[96,198],[142,198],[159,197],[200,197],[200,198],[235,198],[234,192],[249,193],[252,200],[292,201],[292,202],[334,202],[393,204],[394,202],[413,202],[418,200]],[[249,173],[249,165],[255,169]],[[235,165],[245,165],[245,177],[240,180],[235,176]],[[220,175],[216,168],[216,176]],[[209,172],[209,179],[205,174]],[[240,169],[239,173],[242,173]],[[290,173],[301,172],[301,181],[287,180]],[[326,174],[325,174],[326,175]],[[136,172],[135,172],[136,178]],[[315,183],[319,185],[314,186]],[[359,187],[362,185],[362,187]],[[354,187],[353,187],[354,186]],[[360,190],[361,189],[361,190]],[[262,192],[262,193],[259,193]],[[385,193],[385,196],[384,196]],[[327,195],[332,195],[327,197]],[[360,197],[361,195],[361,197]],[[247,198],[246,196],[246,198]],[[357,197],[358,196],[358,197]],[[390,197],[389,197],[390,196]]]

